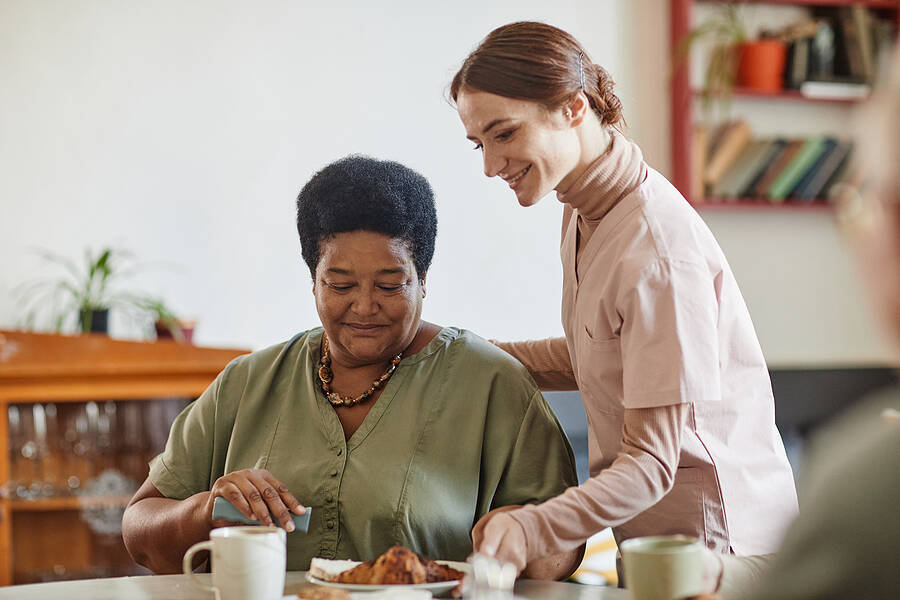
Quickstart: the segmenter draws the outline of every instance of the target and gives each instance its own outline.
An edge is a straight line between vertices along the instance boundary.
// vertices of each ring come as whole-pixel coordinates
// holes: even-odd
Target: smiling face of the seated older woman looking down
[[[408,244],[383,233],[338,233],[322,242],[313,293],[332,359],[387,363],[419,329],[420,281]]]

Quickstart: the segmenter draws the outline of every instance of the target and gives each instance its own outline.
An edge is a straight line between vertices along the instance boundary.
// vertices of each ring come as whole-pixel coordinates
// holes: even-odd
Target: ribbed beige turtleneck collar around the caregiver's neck
[[[606,150],[576,179],[560,202],[570,205],[588,224],[595,225],[619,200],[647,178],[641,149],[619,132],[609,129]]]

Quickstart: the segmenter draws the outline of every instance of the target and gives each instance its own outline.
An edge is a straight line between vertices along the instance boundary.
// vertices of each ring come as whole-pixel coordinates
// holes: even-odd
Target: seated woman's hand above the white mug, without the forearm
[[[291,513],[302,515],[306,507],[294,498],[283,483],[265,469],[242,469],[216,479],[206,500],[206,516],[214,527],[233,524],[224,519],[212,519],[213,502],[222,496],[245,517],[263,525],[274,525],[271,515],[288,532],[294,530]],[[270,515],[271,513],[271,515]]]

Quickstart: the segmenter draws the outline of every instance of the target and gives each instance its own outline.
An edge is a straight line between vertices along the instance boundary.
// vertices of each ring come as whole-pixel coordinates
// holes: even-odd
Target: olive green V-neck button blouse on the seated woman
[[[322,329],[232,361],[175,420],[150,480],[179,500],[225,473],[268,469],[306,506],[289,570],[393,545],[464,560],[489,510],[576,485],[574,459],[524,367],[446,327],[405,357],[350,439],[314,375]]]

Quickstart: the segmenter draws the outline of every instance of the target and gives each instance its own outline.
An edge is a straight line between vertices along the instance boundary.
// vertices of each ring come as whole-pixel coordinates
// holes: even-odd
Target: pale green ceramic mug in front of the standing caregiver
[[[703,544],[697,538],[632,538],[621,550],[631,600],[676,600],[703,591]]]

